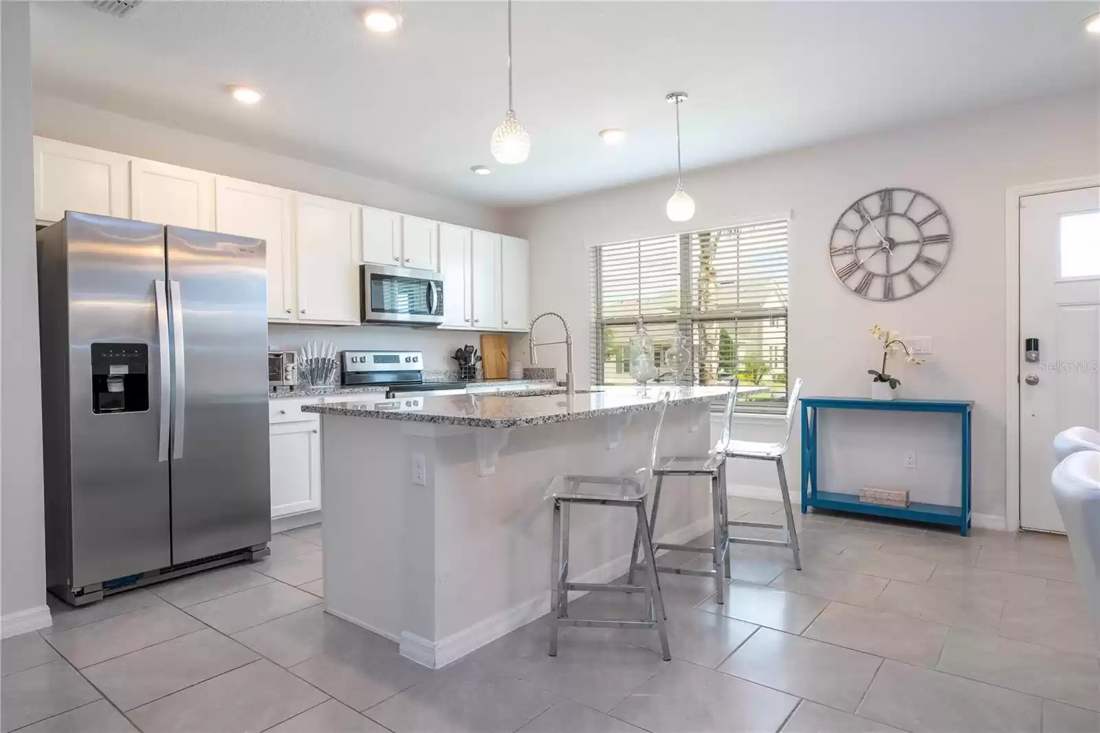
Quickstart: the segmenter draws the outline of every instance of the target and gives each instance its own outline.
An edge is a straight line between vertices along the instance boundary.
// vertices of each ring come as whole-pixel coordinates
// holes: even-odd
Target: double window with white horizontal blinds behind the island
[[[693,384],[737,375],[759,387],[741,409],[783,412],[787,228],[787,220],[761,221],[593,248],[592,383],[632,382],[630,337],[640,315],[658,366],[683,333]]]

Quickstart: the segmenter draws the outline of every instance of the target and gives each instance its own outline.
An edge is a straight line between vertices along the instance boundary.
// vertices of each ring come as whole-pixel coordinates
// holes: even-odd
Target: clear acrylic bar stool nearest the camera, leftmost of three
[[[558,628],[560,626],[594,626],[601,628],[657,628],[661,637],[664,660],[672,658],[669,653],[669,637],[664,631],[664,601],[653,570],[652,537],[646,518],[646,494],[649,480],[657,462],[657,442],[661,436],[661,424],[669,405],[669,393],[664,392],[657,407],[657,427],[649,451],[649,464],[629,475],[581,475],[565,473],[554,478],[547,489],[546,497],[553,500],[553,548],[550,578],[554,590],[550,597],[551,624],[550,656],[558,656]],[[600,506],[623,506],[637,514],[637,535],[644,538],[649,570],[646,584],[628,583],[576,583],[569,580],[569,510],[572,504],[596,504]],[[637,541],[635,541],[637,545]],[[617,591],[645,593],[647,617],[640,621],[617,621],[606,619],[572,619],[569,615],[570,591]]]

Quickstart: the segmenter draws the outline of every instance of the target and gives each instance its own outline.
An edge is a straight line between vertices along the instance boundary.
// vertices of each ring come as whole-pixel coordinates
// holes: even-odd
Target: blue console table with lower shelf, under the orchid
[[[802,403],[802,513],[811,506],[876,514],[898,519],[931,522],[958,527],[966,536],[970,527],[970,417],[974,402],[959,400],[866,400],[858,397],[803,397]],[[882,506],[859,501],[857,494],[821,491],[817,485],[817,411],[880,409],[903,413],[955,413],[959,416],[961,451],[959,506],[912,502],[909,506]]]

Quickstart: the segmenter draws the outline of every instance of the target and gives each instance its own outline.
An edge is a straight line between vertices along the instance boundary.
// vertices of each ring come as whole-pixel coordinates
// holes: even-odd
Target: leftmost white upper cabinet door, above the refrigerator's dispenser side
[[[58,221],[65,211],[130,217],[130,158],[95,147],[34,139],[34,218]]]

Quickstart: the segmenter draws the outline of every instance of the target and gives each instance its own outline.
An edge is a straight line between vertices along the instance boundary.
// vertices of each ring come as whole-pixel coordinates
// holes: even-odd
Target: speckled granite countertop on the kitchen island
[[[738,387],[737,392],[744,395],[766,389],[743,386]],[[641,393],[634,386],[596,386],[591,391],[580,390],[572,398],[568,397],[564,391],[535,395],[440,395],[376,402],[349,400],[323,405],[305,405],[301,409],[322,415],[514,428],[654,409],[666,392],[670,394],[670,405],[698,404],[724,398],[729,393],[729,387],[654,385]]]

